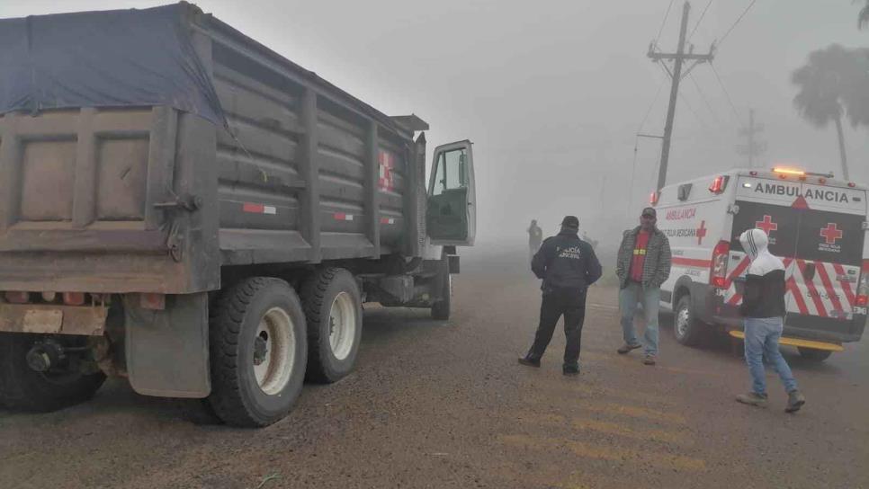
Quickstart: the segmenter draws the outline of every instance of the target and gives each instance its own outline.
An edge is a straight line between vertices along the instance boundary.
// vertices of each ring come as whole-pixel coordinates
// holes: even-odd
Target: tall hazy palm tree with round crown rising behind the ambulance
[[[869,0],[867,0],[869,1]],[[859,73],[856,51],[833,44],[827,49],[813,51],[809,62],[797,69],[791,76],[791,81],[800,88],[793,98],[797,111],[806,120],[819,128],[826,128],[830,122],[836,125],[838,135],[839,156],[842,160],[842,176],[848,179],[847,155],[845,153],[845,135],[842,132],[842,116],[845,115],[849,102],[861,100],[855,96],[865,93],[857,85],[863,79]],[[864,123],[858,117],[856,107],[848,111],[852,124]]]

